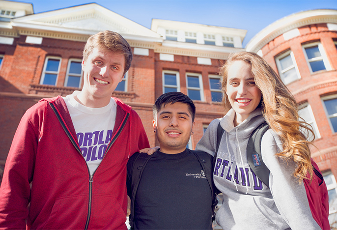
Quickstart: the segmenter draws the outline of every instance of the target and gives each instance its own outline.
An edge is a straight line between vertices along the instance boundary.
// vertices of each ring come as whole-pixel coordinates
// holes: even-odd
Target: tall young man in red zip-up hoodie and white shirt
[[[92,35],[82,91],[27,110],[6,160],[0,229],[127,229],[126,163],[149,146],[139,115],[111,97],[131,61],[120,34]]]

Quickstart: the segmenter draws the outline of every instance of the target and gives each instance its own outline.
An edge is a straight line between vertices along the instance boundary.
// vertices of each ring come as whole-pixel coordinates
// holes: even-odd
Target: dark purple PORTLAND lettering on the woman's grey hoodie
[[[253,185],[253,190],[261,191],[263,189],[262,181],[253,173],[250,167],[238,168],[235,166],[235,169],[231,169],[232,165],[232,161],[229,163],[229,160],[217,158],[213,174],[244,187]]]

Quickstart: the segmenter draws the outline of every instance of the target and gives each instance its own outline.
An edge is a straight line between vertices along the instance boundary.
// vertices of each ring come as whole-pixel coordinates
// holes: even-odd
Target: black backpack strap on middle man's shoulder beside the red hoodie
[[[138,185],[140,182],[140,177],[141,174],[143,173],[143,170],[147,164],[147,162],[151,159],[152,155],[147,155],[147,153],[139,153],[133,164],[132,164],[132,171],[131,171],[131,213],[129,216],[129,222],[130,222],[130,226],[131,229],[134,228],[134,212],[135,212],[135,199],[136,199],[136,192],[138,189]]]

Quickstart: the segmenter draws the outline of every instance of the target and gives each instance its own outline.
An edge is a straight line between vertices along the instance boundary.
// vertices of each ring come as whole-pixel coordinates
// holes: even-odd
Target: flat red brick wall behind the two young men
[[[43,38],[41,45],[25,43],[26,36],[14,39],[13,45],[0,45],[0,54],[4,54],[0,69],[0,121],[5,132],[0,135],[0,161],[5,160],[12,142],[15,130],[25,111],[45,96],[67,95],[76,88],[64,87],[65,75],[69,58],[82,58],[84,42],[73,42],[52,38]],[[61,59],[60,71],[56,86],[40,86],[41,74],[47,56]],[[213,119],[223,116],[221,103],[211,100],[209,74],[217,74],[224,60],[212,59],[212,65],[197,64],[196,57],[174,56],[174,61],[162,61],[159,54],[149,50],[149,56],[134,55],[128,72],[127,92],[114,92],[112,96],[120,98],[140,115],[151,146],[156,145],[152,128],[152,105],[162,94],[162,71],[175,70],[180,74],[181,91],[187,94],[186,72],[202,75],[204,101],[195,101],[197,107],[196,125],[192,136],[193,148],[203,134],[203,124],[209,124]],[[33,86],[31,86],[33,85]],[[8,96],[4,92],[17,93]],[[36,97],[26,94],[37,94]]]

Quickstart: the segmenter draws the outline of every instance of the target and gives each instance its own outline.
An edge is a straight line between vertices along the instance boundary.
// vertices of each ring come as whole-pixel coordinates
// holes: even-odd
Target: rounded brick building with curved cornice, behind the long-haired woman
[[[330,223],[337,203],[337,10],[303,11],[257,33],[246,46],[279,73],[313,127],[312,158],[329,190]],[[312,138],[312,137],[311,137]]]

